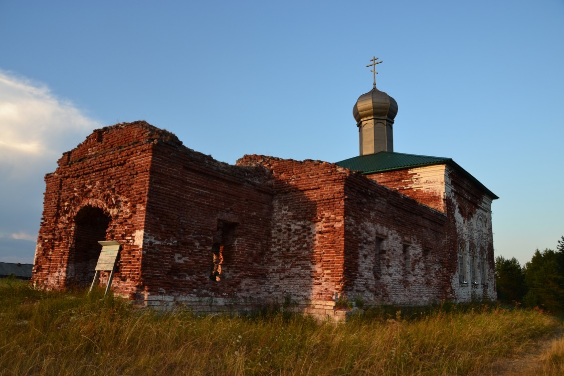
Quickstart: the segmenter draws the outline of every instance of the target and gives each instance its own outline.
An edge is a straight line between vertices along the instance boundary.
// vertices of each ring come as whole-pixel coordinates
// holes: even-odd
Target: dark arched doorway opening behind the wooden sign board
[[[74,216],[74,238],[69,249],[65,285],[85,287],[92,283],[96,262],[106,240],[110,216],[102,209],[85,206]]]

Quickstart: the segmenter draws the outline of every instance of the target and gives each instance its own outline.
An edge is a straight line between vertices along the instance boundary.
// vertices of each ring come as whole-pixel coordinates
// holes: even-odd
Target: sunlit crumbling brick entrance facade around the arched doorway
[[[76,249],[74,219],[81,209],[91,206],[110,219],[105,239],[98,240],[117,240],[122,244],[113,289],[126,297],[133,296],[140,285],[142,258],[142,244],[135,236],[136,231],[143,229],[150,142],[156,132],[145,122],[105,127],[63,154],[56,171],[45,177],[32,284],[63,289],[80,277],[73,274],[80,273],[73,260],[85,250]],[[96,255],[87,260],[92,271],[101,249],[96,246]]]

